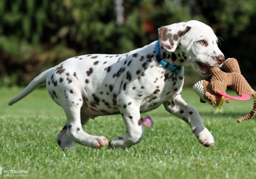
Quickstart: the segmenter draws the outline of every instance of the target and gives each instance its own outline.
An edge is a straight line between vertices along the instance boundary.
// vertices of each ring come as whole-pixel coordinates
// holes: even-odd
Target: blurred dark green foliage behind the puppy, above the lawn
[[[256,85],[254,0],[127,0],[123,7],[125,21],[117,25],[114,0],[1,0],[0,86],[27,85],[71,56],[129,52],[157,40],[159,27],[192,19],[222,37],[225,57],[235,57]],[[187,86],[199,78],[187,76]]]

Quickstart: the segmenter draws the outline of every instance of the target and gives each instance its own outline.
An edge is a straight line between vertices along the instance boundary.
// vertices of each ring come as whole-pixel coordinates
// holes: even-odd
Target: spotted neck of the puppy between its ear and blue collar
[[[159,44],[160,54],[164,61],[170,63],[170,65],[181,67],[187,66],[187,56],[180,49],[180,45],[175,49],[174,52],[169,52]]]

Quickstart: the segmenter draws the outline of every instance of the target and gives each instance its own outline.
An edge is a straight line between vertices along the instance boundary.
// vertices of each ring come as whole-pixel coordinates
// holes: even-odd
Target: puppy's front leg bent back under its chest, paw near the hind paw
[[[144,137],[144,127],[139,113],[140,104],[140,101],[136,100],[121,100],[121,103],[118,104],[126,133],[124,136],[112,139],[108,143],[108,149],[126,149],[141,142]]]

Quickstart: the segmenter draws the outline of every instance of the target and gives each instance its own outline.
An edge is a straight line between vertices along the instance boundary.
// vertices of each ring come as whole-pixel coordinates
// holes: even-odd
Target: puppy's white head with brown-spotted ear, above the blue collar
[[[175,54],[175,65],[192,66],[201,75],[209,75],[204,66],[220,67],[224,55],[218,48],[214,31],[199,21],[175,23],[159,28],[161,46]]]

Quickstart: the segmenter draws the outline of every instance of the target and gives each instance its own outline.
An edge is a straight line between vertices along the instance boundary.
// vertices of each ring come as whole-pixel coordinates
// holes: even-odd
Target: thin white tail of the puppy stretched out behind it
[[[46,79],[47,79],[47,73],[51,70],[47,69],[46,71],[42,72],[40,75],[36,76],[29,84],[28,86],[23,89],[19,94],[17,94],[13,99],[11,99],[8,103],[9,106],[13,105],[17,101],[25,98],[29,93],[34,91],[36,88],[39,86],[45,85],[46,84]]]

